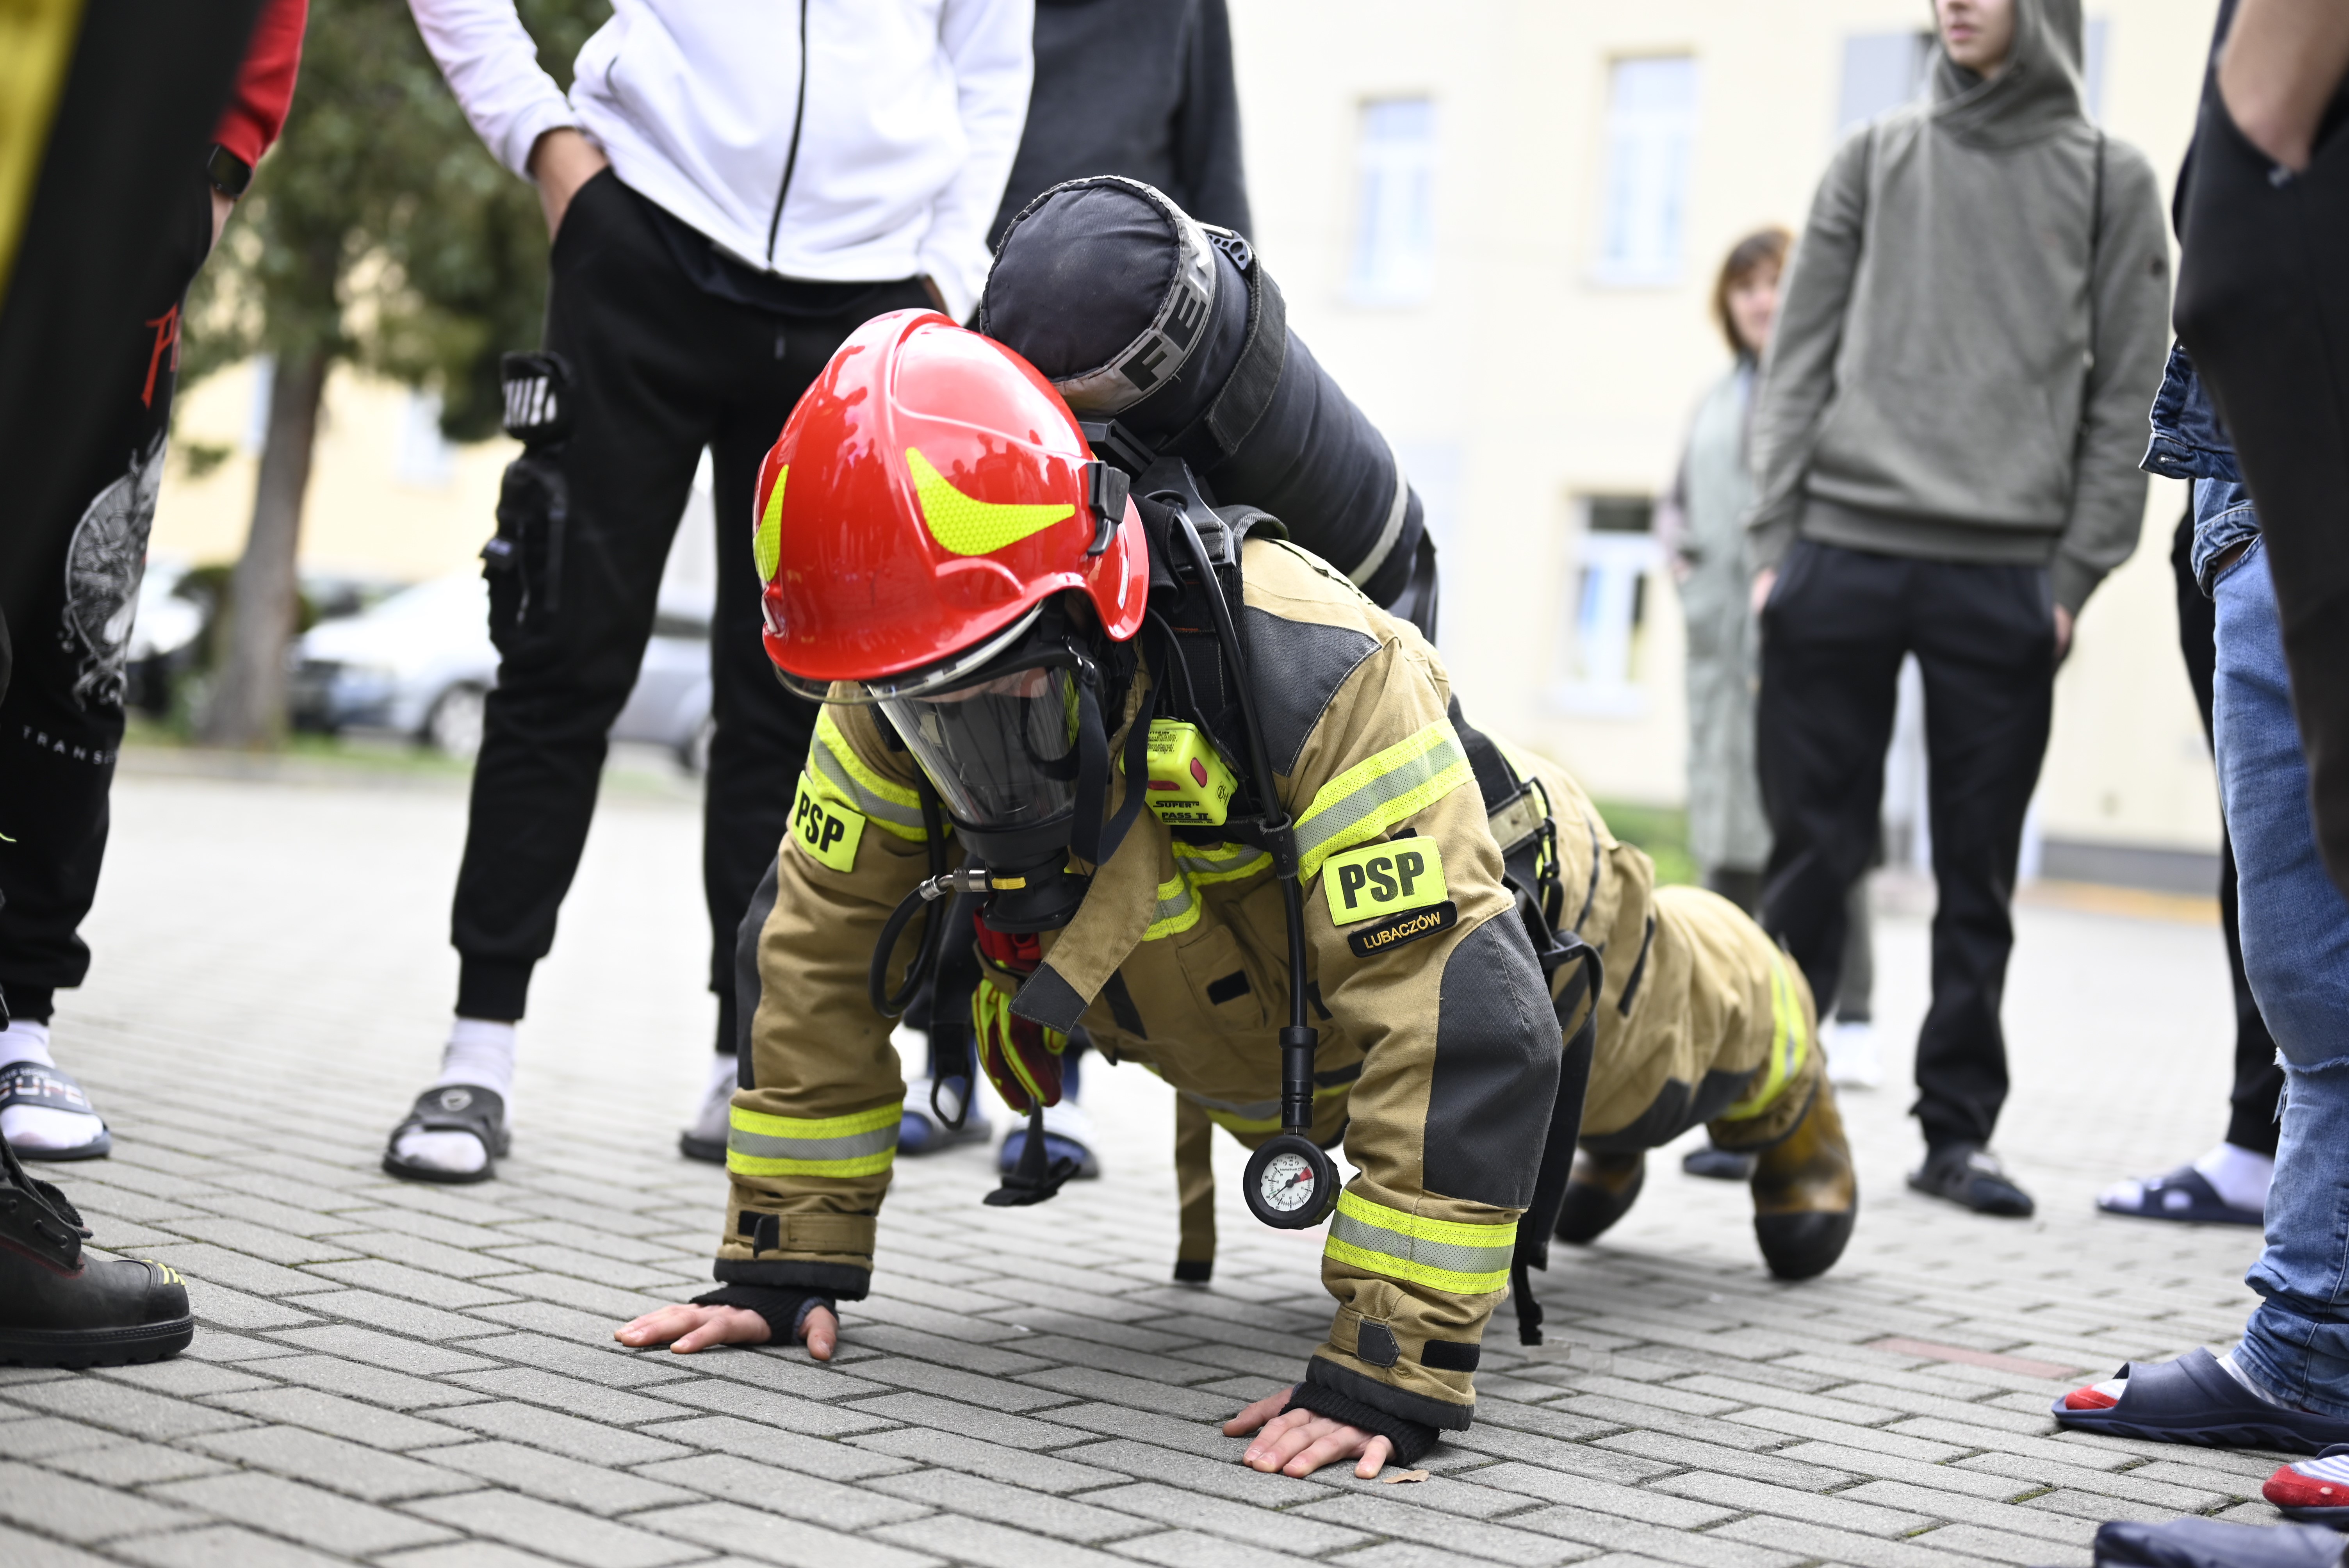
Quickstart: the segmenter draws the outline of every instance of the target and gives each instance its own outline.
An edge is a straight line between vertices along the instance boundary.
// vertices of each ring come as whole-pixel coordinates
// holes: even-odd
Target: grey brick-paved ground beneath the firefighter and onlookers
[[[453,993],[458,789],[122,779],[56,1040],[117,1153],[59,1174],[106,1249],[190,1277],[204,1329],[162,1366],[0,1371],[0,1568],[2027,1568],[2086,1563],[2100,1519],[2274,1519],[2271,1455],[2046,1418],[2074,1373],[2225,1345],[2257,1246],[2088,1202],[2222,1129],[2217,932],[2046,906],[2018,915],[2001,1127],[2041,1218],[1905,1192],[1907,1096],[1851,1096],[1858,1239],[1778,1286],[1743,1192],[1658,1157],[1541,1282],[1550,1345],[1494,1324],[1426,1483],[1236,1462],[1214,1422],[1325,1324],[1320,1237],[1259,1230],[1226,1181],[1217,1282],[1170,1284],[1172,1113],[1132,1070],[1088,1094],[1109,1176],[1055,1204],[980,1207],[982,1150],[900,1162],[832,1366],[622,1352],[615,1319],[707,1279],[721,1178],[672,1153],[712,1021],[698,812],[620,784],[524,1026],[514,1157],[418,1188],[376,1157]],[[1903,1040],[1917,913],[1879,972]]]

